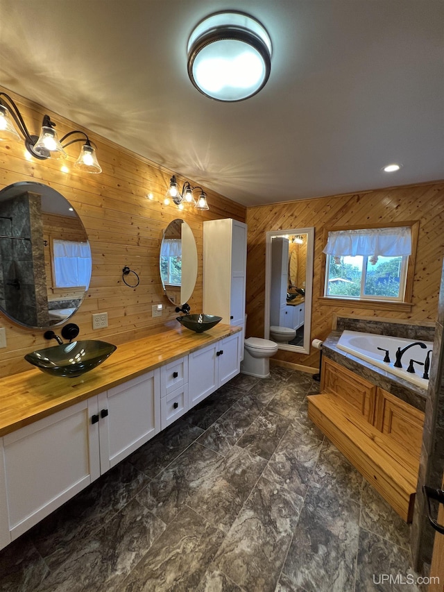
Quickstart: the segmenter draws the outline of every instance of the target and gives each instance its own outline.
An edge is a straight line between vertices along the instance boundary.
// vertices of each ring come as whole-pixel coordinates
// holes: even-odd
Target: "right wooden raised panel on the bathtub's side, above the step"
[[[418,459],[422,443],[424,413],[377,387],[375,427]]]

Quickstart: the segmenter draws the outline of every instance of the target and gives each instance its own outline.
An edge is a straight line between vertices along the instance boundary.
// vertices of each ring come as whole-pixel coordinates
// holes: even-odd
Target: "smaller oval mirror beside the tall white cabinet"
[[[197,248],[193,231],[180,218],[167,226],[160,246],[160,278],[172,304],[185,304],[197,278]]]

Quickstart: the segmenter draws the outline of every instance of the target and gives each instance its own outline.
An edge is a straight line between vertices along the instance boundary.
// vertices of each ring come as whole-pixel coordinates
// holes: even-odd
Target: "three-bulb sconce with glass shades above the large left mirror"
[[[12,120],[15,122],[15,126]],[[74,167],[87,173],[102,172],[101,166],[97,161],[95,147],[85,132],[74,130],[65,134],[59,140],[57,132],[54,129],[56,124],[51,121],[49,115],[44,115],[40,135],[32,135],[28,132],[22,114],[15,102],[12,101],[8,94],[0,92],[0,140],[21,139],[16,127],[24,138],[26,150],[34,158],[38,158],[39,160],[67,158],[65,148],[69,144],[74,144],[74,142],[83,142]],[[69,142],[65,142],[65,139],[74,134],[81,135],[82,137],[70,139]]]

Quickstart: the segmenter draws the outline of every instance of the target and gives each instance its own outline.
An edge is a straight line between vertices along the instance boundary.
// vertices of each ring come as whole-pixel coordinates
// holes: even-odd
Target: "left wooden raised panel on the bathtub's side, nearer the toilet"
[[[376,387],[325,357],[323,358],[322,390],[340,396],[369,423],[373,423]]]

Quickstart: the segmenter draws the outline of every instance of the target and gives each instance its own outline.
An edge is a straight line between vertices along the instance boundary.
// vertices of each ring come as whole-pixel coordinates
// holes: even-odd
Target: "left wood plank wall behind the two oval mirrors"
[[[12,96],[31,133],[40,129],[44,113],[56,122],[58,135],[82,129],[59,115],[53,114],[27,99],[0,87]],[[191,312],[202,310],[203,221],[234,218],[245,221],[246,208],[207,191],[210,210],[180,211],[174,205],[163,205],[162,198],[169,178],[176,172],[139,157],[89,130],[85,130],[97,144],[97,155],[103,169],[100,175],[75,172],[72,168],[78,146],[69,146],[70,158],[65,162],[40,161],[24,157],[21,142],[0,142],[0,189],[18,181],[45,183],[60,192],[74,206],[83,221],[92,249],[92,280],[80,310],[71,321],[80,327],[82,339],[103,339],[121,344],[162,330],[177,316],[174,306],[163,294],[158,269],[162,231],[169,222],[182,218],[193,230],[198,250],[198,278],[189,301]],[[61,164],[69,173],[60,170]],[[180,185],[192,179],[178,175]],[[154,200],[146,194],[152,193]],[[122,268],[128,265],[140,277],[137,288],[127,287],[122,281]],[[151,305],[162,303],[161,319],[152,319]],[[108,312],[108,328],[92,330],[92,313]],[[6,328],[7,347],[0,349],[0,376],[30,369],[24,354],[47,346],[42,330],[23,328],[0,313],[0,327]],[[60,328],[59,328],[60,329]]]

